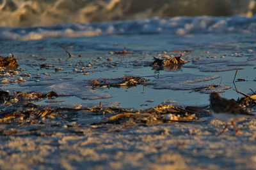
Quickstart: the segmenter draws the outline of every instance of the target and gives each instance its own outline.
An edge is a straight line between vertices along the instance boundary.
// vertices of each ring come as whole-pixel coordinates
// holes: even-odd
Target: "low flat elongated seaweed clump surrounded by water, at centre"
[[[106,79],[99,78],[97,80],[89,80],[90,85],[93,89],[97,87],[136,87],[137,85],[147,85],[145,78],[140,76],[124,76],[122,78]]]

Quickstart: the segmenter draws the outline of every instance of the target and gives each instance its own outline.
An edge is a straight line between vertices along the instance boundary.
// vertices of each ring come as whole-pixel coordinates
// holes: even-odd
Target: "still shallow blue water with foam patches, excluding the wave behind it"
[[[254,34],[194,34],[99,36],[90,38],[42,39],[37,41],[2,41],[1,55],[13,53],[19,62],[18,72],[1,73],[1,89],[50,92],[56,99],[38,104],[54,106],[99,106],[119,104],[124,108],[150,108],[168,99],[183,105],[205,106],[207,93],[223,92],[237,98],[237,90],[255,90]],[[243,39],[243,41],[241,41]],[[250,41],[249,41],[250,40]],[[65,47],[74,57],[60,48]],[[7,45],[7,46],[6,46]],[[9,46],[13,46],[10,50]],[[115,53],[124,50],[133,53]],[[182,54],[189,62],[176,70],[151,67],[154,57]],[[92,80],[111,80],[140,76],[145,85],[131,88],[93,88]],[[151,102],[147,102],[151,101]]]

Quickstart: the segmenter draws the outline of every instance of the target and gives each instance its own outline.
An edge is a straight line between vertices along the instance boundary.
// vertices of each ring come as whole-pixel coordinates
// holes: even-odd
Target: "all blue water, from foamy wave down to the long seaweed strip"
[[[1,27],[0,54],[13,53],[17,74],[1,73],[2,90],[49,92],[47,106],[148,108],[161,103],[207,106],[209,93],[243,97],[255,89],[256,16],[171,17],[92,24]],[[60,47],[67,48],[72,57]],[[127,55],[115,52],[127,48]],[[156,70],[154,57],[188,63]],[[60,69],[59,69],[60,68]],[[235,81],[234,75],[244,81]],[[24,76],[24,74],[30,76]],[[93,89],[90,80],[141,76],[147,85]],[[22,77],[26,81],[15,81]],[[6,83],[7,82],[7,83]],[[209,85],[218,85],[207,89]]]

